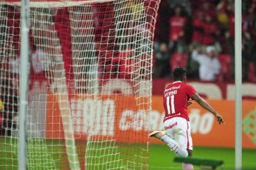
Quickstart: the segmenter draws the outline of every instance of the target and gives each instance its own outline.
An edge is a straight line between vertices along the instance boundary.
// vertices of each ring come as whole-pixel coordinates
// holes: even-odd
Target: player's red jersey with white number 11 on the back
[[[165,88],[163,93],[163,106],[165,108],[165,120],[179,116],[189,120],[187,113],[187,101],[195,89],[185,82],[176,81]]]

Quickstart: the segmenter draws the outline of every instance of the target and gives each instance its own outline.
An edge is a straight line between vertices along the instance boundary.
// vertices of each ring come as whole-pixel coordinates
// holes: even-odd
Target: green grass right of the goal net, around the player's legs
[[[194,147],[193,157],[223,160],[223,169],[235,169],[235,149],[220,147]],[[256,170],[256,149],[243,149],[242,165],[245,170]],[[149,146],[149,169],[182,169],[180,163],[173,162],[175,154],[166,145]],[[194,166],[194,169],[199,169]],[[218,168],[221,169],[221,168]]]

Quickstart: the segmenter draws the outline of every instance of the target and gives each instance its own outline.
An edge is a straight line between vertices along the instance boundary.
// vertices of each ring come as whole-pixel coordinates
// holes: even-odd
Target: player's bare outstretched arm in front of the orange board
[[[212,106],[209,105],[207,101],[205,101],[201,96],[199,96],[199,94],[195,93],[192,95],[191,98],[194,99],[200,106],[202,106],[202,108],[206,109],[207,111],[210,111],[217,118],[219,124],[225,123],[223,117],[219,115],[219,113],[216,110],[214,110],[214,108],[212,108]]]

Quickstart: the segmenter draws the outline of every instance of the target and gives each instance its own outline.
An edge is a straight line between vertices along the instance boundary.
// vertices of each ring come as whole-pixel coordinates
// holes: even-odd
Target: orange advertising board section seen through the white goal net
[[[67,109],[69,106],[62,104],[64,108],[59,108],[57,95],[50,94],[47,97],[47,138],[63,139],[66,126],[67,133],[73,131],[74,138],[78,140],[86,140],[90,131],[96,140],[115,139],[116,142],[131,143],[148,141],[146,110],[149,105],[136,105],[138,101],[133,96],[100,96],[100,99],[95,100],[93,96],[84,98],[74,95],[70,98],[71,113]],[[70,126],[71,122],[73,127]]]

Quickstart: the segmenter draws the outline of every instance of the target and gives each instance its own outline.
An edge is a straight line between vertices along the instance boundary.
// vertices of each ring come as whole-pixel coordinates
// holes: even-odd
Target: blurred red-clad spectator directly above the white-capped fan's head
[[[219,28],[214,22],[212,16],[207,14],[205,16],[204,23],[204,36],[202,38],[202,44],[204,45],[214,45],[217,42],[219,35]]]

